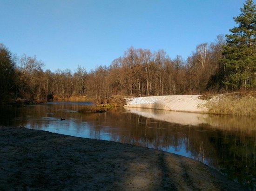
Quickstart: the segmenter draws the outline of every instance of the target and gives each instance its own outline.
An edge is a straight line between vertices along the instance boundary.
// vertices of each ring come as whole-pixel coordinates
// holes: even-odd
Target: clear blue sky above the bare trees
[[[0,0],[0,43],[44,70],[109,65],[130,46],[186,59],[236,24],[245,0]]]

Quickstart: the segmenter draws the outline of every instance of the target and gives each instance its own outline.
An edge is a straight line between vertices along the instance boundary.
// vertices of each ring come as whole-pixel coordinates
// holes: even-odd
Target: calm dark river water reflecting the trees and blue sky
[[[0,108],[0,125],[113,140],[199,160],[256,188],[255,117],[216,116],[152,109],[109,109],[81,114],[89,102],[52,102]],[[65,118],[65,121],[60,119]]]

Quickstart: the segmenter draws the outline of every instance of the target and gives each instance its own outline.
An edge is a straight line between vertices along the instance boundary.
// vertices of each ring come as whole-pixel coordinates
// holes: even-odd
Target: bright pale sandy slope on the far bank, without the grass
[[[124,107],[208,113],[208,108],[204,107],[206,102],[199,96],[191,95],[135,97],[128,98]]]

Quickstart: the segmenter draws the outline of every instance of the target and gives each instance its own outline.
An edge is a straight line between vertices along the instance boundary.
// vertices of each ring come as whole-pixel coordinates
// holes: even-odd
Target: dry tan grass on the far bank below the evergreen
[[[218,96],[206,105],[210,114],[217,115],[256,115],[256,97],[253,94],[231,93]]]

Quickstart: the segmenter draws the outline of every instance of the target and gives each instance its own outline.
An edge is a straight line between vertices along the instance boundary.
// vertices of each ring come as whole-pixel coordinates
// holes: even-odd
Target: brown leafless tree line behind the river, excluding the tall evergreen
[[[219,68],[223,44],[223,37],[218,36],[216,43],[198,45],[187,60],[181,56],[171,59],[164,50],[151,52],[130,47],[108,67],[98,66],[90,72],[81,66],[74,72],[43,71],[44,64],[35,56],[24,54],[17,59],[1,45],[0,52],[6,52],[6,63],[10,63],[5,69],[9,72],[1,72],[6,75],[0,77],[1,84],[5,84],[1,86],[1,95],[11,92],[13,96],[38,102],[45,102],[51,95],[63,100],[89,96],[106,103],[112,95],[202,94],[207,89],[218,90],[216,84],[222,84],[210,78]],[[5,67],[1,68],[4,71]]]

